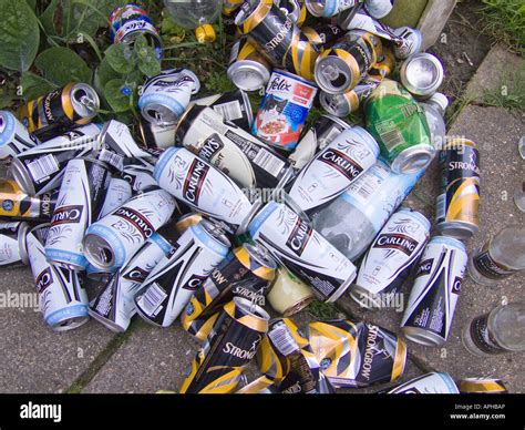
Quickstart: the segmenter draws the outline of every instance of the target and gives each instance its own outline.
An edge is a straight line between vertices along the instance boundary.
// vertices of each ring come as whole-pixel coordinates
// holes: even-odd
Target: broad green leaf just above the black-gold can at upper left
[[[91,69],[69,48],[54,47],[43,51],[34,65],[48,81],[59,86],[69,82],[91,82]]]

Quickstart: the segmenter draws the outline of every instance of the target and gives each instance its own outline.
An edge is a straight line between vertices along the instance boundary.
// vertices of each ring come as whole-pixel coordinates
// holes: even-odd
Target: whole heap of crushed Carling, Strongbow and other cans
[[[391,7],[225,1],[238,91],[196,99],[195,73],[163,71],[142,90],[140,136],[92,123],[100,100],[85,83],[2,111],[0,264],[31,266],[45,325],[92,317],[122,332],[135,315],[157,327],[178,318],[203,342],[179,392],[332,392],[399,378],[405,340],[350,320],[301,331],[289,317],[313,297],[381,306],[415,270],[401,331],[443,345],[467,262],[461,240],[478,228],[478,153],[443,140],[443,66],[420,52],[418,30],[378,21]],[[157,34],[137,6],[111,23],[115,43]],[[400,82],[388,78],[398,61]],[[261,89],[254,119],[246,92]],[[315,103],[326,113],[307,129]],[[366,127],[344,121],[358,109]],[[400,205],[436,154],[431,236],[430,221]],[[102,283],[95,297],[85,278]],[[241,383],[251,360],[260,376]],[[505,387],[436,372],[389,392],[460,390]]]

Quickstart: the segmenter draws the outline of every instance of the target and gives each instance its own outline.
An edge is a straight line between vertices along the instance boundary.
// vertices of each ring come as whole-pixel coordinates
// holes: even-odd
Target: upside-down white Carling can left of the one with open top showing
[[[84,270],[82,239],[86,228],[97,219],[111,174],[96,160],[71,160],[65,167],[56,206],[45,242],[45,258],[71,270]]]

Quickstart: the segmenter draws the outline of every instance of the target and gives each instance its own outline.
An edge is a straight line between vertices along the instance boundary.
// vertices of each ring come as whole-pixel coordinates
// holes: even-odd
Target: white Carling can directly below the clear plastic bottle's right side
[[[430,237],[430,222],[419,212],[401,208],[373,240],[359,268],[350,296],[367,308],[389,305],[418,262]]]

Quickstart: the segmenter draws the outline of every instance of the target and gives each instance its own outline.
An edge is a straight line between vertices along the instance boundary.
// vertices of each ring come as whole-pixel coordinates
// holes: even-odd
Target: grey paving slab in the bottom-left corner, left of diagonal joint
[[[113,338],[94,321],[63,334],[45,327],[28,268],[2,270],[0,294],[0,392],[63,392]]]

